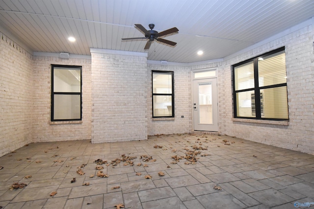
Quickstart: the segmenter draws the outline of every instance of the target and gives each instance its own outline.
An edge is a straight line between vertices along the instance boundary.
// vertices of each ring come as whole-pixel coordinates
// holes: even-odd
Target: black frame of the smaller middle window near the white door
[[[171,74],[172,80],[172,93],[154,93],[153,85],[154,85],[154,72],[157,73],[165,73]],[[174,71],[163,71],[163,70],[152,70],[152,116],[153,118],[162,118],[162,117],[175,117],[175,88],[174,88]],[[172,103],[172,115],[171,116],[154,116],[154,96],[155,95],[166,95],[171,96],[171,103]]]

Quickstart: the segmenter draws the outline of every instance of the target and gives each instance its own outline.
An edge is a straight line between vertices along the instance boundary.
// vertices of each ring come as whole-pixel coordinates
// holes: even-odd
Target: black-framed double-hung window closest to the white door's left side
[[[153,117],[174,117],[173,71],[152,71]]]

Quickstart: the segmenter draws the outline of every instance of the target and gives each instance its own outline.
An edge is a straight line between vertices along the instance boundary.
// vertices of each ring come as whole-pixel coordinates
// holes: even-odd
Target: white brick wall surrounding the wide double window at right
[[[286,47],[289,125],[235,122],[230,66],[267,51]],[[252,141],[314,154],[314,58],[312,26],[220,63],[220,132]]]

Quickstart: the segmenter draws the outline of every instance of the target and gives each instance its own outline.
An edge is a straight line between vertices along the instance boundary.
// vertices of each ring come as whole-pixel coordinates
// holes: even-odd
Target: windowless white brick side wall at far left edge
[[[0,156],[32,139],[32,57],[0,33]]]

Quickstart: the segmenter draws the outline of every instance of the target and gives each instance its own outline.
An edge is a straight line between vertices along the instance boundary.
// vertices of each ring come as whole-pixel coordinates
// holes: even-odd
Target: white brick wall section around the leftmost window
[[[33,142],[91,139],[91,59],[34,56]],[[51,65],[82,66],[82,123],[50,124]]]

